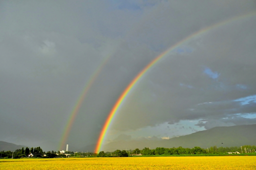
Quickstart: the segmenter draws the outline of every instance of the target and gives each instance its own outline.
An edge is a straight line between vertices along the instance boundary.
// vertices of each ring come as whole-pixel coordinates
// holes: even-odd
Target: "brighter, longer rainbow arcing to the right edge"
[[[113,120],[113,117],[115,115],[115,113],[117,112],[117,110],[119,109],[120,105],[122,104],[122,102],[124,101],[125,97],[127,96],[127,94],[131,91],[131,89],[133,88],[133,86],[138,82],[138,80],[140,80],[140,78],[155,64],[157,63],[161,58],[163,58],[166,54],[168,54],[169,52],[171,52],[172,50],[174,50],[175,48],[177,48],[178,46],[180,46],[181,44],[189,41],[190,39],[192,39],[193,37],[196,37],[196,36],[199,36],[213,28],[217,28],[221,25],[224,25],[224,24],[227,24],[227,23],[230,23],[232,21],[235,21],[235,20],[239,20],[239,19],[242,19],[242,18],[246,18],[246,17],[249,17],[249,16],[254,16],[256,14],[256,12],[250,12],[246,15],[242,15],[242,16],[238,16],[238,17],[234,17],[234,18],[231,18],[231,19],[228,19],[228,20],[224,20],[224,21],[221,21],[217,24],[214,24],[214,25],[211,25],[209,27],[206,27],[204,29],[201,29],[191,35],[189,35],[188,37],[186,37],[185,39],[183,39],[182,41],[176,43],[175,45],[171,46],[169,49],[167,49],[166,51],[164,51],[162,54],[160,54],[159,56],[157,56],[153,61],[151,61],[143,70],[141,70],[141,72],[139,74],[136,75],[136,77],[130,82],[130,84],[125,88],[125,90],[123,91],[123,93],[121,94],[121,96],[118,98],[118,100],[116,101],[116,103],[114,104],[114,107],[112,108],[112,110],[110,111],[105,123],[104,123],[104,126],[100,132],[100,136],[98,138],[98,141],[97,141],[97,145],[96,145],[96,148],[95,148],[95,152],[96,153],[99,153],[100,149],[101,149],[101,146],[102,146],[102,143],[104,141],[104,137],[107,133],[107,130],[110,126],[110,123],[111,121]]]

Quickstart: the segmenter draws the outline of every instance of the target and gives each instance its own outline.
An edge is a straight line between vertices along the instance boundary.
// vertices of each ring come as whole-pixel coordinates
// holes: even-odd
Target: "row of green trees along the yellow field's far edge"
[[[210,147],[210,148],[200,148],[200,147],[194,147],[194,148],[183,148],[183,147],[178,147],[178,148],[163,148],[163,147],[158,147],[155,149],[150,149],[145,147],[144,149],[140,150],[138,148],[134,150],[115,150],[113,152],[104,152],[101,151],[99,153],[94,153],[94,152],[70,152],[68,151],[68,154],[70,154],[71,157],[128,157],[129,155],[182,155],[182,154],[220,154],[220,153],[227,153],[227,152],[240,152],[240,153],[250,153],[256,151],[256,146],[250,146],[250,145],[244,145],[241,147],[219,147],[217,148],[216,146]],[[31,147],[30,149],[28,147],[22,148],[22,149],[17,149],[14,152],[11,151],[1,151],[0,158],[23,158],[27,157],[29,153],[42,153],[46,154],[46,156],[43,156],[42,158],[55,158],[55,157],[66,157],[65,154],[60,153],[60,151],[48,151],[44,152],[42,148],[40,147]]]

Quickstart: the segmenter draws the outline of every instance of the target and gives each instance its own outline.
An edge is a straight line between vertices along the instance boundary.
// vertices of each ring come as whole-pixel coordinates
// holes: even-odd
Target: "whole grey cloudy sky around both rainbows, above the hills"
[[[122,91],[152,59],[255,6],[250,0],[1,1],[0,140],[59,149],[84,86],[110,55],[67,140],[70,150],[95,144]],[[255,19],[203,34],[157,63],[125,99],[106,141],[157,136],[168,123],[177,128],[184,121],[194,124],[170,135],[255,123],[255,97],[241,99],[256,94]]]

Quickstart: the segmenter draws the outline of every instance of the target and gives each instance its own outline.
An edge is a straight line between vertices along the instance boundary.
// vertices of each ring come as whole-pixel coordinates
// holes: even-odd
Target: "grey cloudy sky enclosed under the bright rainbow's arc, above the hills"
[[[194,51],[172,53],[148,71],[131,92],[133,97],[126,99],[127,105],[120,108],[116,120],[122,126],[113,128],[136,129],[181,120],[205,120],[197,124],[205,128],[255,123],[254,119],[232,118],[256,112],[255,99],[243,104],[243,98],[256,93],[256,42],[250,36],[255,26],[253,16],[185,43]],[[239,84],[243,88],[237,88]],[[131,126],[122,120],[132,122]]]

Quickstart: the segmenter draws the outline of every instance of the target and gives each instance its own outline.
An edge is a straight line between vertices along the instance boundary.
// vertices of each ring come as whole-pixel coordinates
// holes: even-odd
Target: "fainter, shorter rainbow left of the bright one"
[[[74,106],[70,117],[68,119],[66,128],[64,130],[64,133],[62,135],[61,141],[60,141],[60,146],[59,146],[59,150],[62,150],[62,148],[65,146],[66,142],[67,142],[67,138],[69,135],[69,132],[71,130],[71,127],[74,123],[74,120],[76,119],[76,115],[84,101],[84,98],[86,97],[86,94],[88,93],[89,89],[91,88],[92,84],[94,83],[94,81],[97,79],[97,77],[99,76],[101,70],[103,69],[103,67],[105,66],[105,64],[108,62],[108,60],[110,59],[111,55],[108,55],[107,57],[105,57],[105,59],[101,62],[100,66],[93,72],[93,74],[91,75],[89,81],[86,83],[86,85],[84,86],[84,89],[80,95],[80,97],[78,98],[76,105]]]

